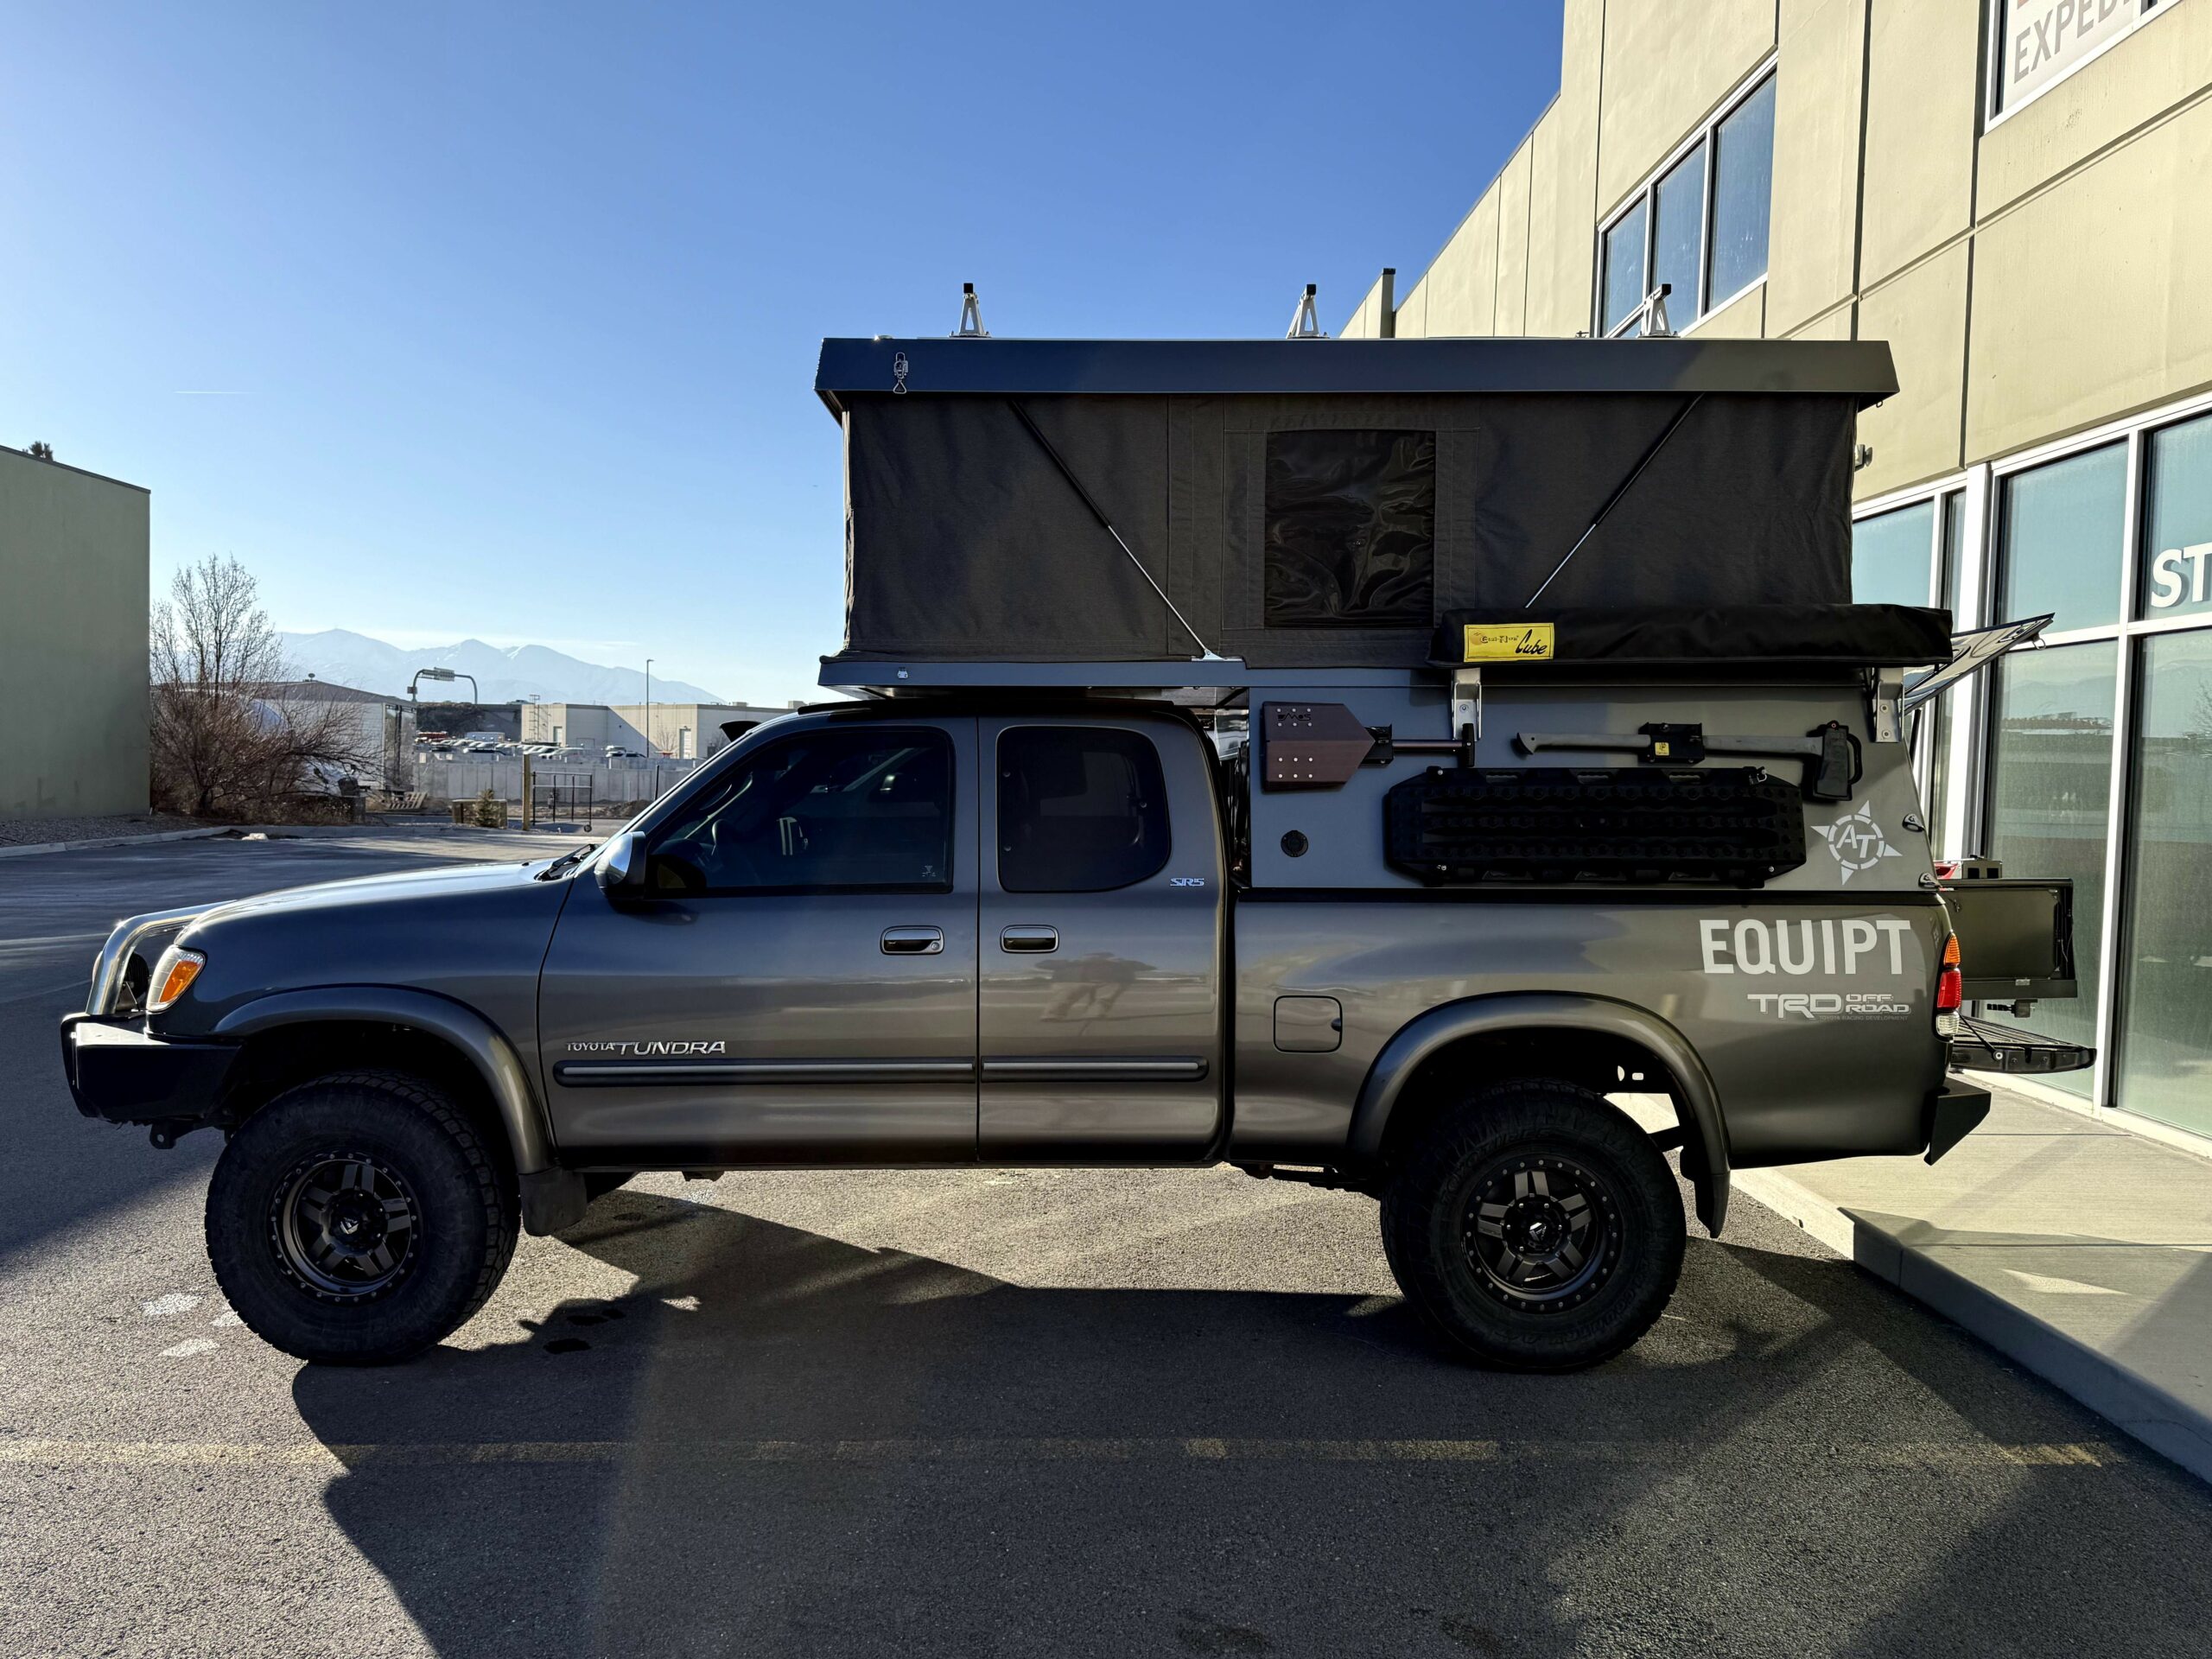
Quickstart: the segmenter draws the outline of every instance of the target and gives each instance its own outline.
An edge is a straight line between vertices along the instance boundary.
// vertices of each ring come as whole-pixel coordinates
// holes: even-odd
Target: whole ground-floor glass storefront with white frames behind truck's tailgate
[[[1851,588],[1933,588],[1958,628],[2053,613],[2055,644],[2000,661],[1980,712],[1953,692],[1920,717],[1931,841],[2075,883],[2081,995],[1989,1011],[2101,1033],[2095,1071],[2039,1082],[2212,1139],[2212,409],[2108,431],[1885,502],[1854,526]]]

